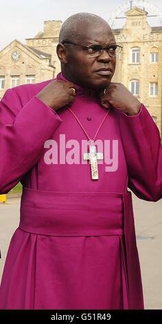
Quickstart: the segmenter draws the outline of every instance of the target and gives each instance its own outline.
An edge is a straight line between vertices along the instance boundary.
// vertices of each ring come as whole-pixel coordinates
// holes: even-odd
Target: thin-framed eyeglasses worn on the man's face
[[[117,44],[111,44],[106,46],[106,48],[103,48],[102,45],[97,45],[97,44],[91,44],[91,45],[79,45],[76,43],[72,43],[69,41],[65,41],[62,42],[63,45],[65,44],[69,44],[69,45],[77,45],[80,46],[81,48],[86,48],[86,50],[88,50],[89,54],[92,57],[99,57],[103,50],[106,50],[106,52],[108,52],[108,55],[110,57],[116,57],[117,55],[120,54],[120,52],[122,51],[123,46],[121,45],[117,45]]]

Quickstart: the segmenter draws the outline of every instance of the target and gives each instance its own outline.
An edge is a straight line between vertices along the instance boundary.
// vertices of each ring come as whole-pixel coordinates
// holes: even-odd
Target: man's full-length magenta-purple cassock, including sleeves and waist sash
[[[61,73],[56,79],[67,81]],[[96,138],[106,159],[92,180],[78,121],[67,107],[54,111],[36,97],[51,81],[9,89],[0,103],[0,194],[23,185],[0,308],[143,309],[128,188],[146,201],[162,197],[157,125],[144,105],[135,116],[112,107]],[[94,90],[75,88],[71,110],[93,139],[107,110]]]

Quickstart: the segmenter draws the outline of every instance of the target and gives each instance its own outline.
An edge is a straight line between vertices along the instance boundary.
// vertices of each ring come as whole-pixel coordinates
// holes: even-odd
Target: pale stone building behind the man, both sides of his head
[[[116,42],[123,46],[117,57],[113,82],[121,82],[146,105],[162,134],[162,27],[151,27],[145,10],[126,12],[123,28],[113,30]],[[53,79],[60,72],[56,54],[62,21],[44,21],[26,44],[12,41],[0,52],[0,99],[5,90],[23,83]]]

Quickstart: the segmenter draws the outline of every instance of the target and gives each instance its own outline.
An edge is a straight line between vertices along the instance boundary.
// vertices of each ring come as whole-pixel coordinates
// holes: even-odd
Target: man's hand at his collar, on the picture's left
[[[65,105],[71,105],[75,101],[73,91],[74,84],[62,80],[51,81],[36,97],[54,110],[58,110]]]

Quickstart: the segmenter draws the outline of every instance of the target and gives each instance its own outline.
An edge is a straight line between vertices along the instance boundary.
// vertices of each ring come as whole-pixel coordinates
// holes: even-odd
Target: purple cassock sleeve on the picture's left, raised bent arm
[[[36,96],[22,106],[16,88],[8,89],[0,102],[0,194],[7,194],[34,167],[45,141],[62,123]]]

